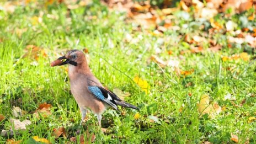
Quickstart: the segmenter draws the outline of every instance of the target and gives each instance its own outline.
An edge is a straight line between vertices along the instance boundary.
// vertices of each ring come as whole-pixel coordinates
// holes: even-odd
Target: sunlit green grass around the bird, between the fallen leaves
[[[41,17],[42,22],[33,24],[34,16]],[[133,30],[135,26],[125,22],[124,13],[110,12],[96,1],[73,10],[68,10],[64,4],[46,8],[35,3],[17,6],[12,14],[0,10],[0,114],[6,116],[0,121],[0,131],[12,127],[9,120],[14,118],[13,106],[27,111],[15,119],[32,122],[25,131],[15,130],[14,136],[0,137],[0,143],[10,138],[25,142],[33,136],[64,143],[77,136],[81,115],[70,93],[66,67],[50,67],[50,62],[66,50],[85,47],[89,50],[90,68],[104,86],[131,93],[125,100],[140,108],[140,111],[122,109],[124,115],[107,110],[102,120],[103,127],[108,129],[105,134],[99,130],[97,118],[89,114],[81,133],[86,134],[87,129],[94,133],[95,143],[234,143],[231,133],[239,137],[239,143],[247,140],[255,143],[256,122],[248,122],[248,118],[256,114],[253,48],[243,44],[229,49],[225,43],[229,34],[215,33],[213,38],[222,44],[220,52],[180,55],[180,51],[190,47],[179,35],[205,31],[198,28],[195,19],[176,21],[177,25],[186,23],[190,27],[152,36],[146,30]],[[19,35],[15,32],[19,29],[26,30]],[[127,42],[127,34],[137,41]],[[23,58],[27,45],[41,47],[47,56],[40,54],[38,61]],[[204,49],[207,46],[208,42]],[[165,60],[174,57],[180,62],[181,70],[194,69],[194,72],[184,77],[177,75],[172,67],[161,68],[153,61],[148,63],[156,48],[161,49],[159,57]],[[168,55],[169,50],[173,51],[172,56]],[[248,52],[249,61],[222,61],[222,55],[243,51]],[[230,67],[234,70],[229,71]],[[135,76],[150,84],[148,94],[132,81]],[[231,100],[223,100],[228,93],[236,97],[233,103],[238,106]],[[212,102],[226,106],[214,119],[198,112],[200,97],[205,94],[210,95]],[[244,99],[246,102],[239,106]],[[52,115],[35,118],[33,113],[44,102],[52,105]],[[134,118],[136,113],[140,114],[138,120]],[[159,122],[150,121],[148,116],[156,116]],[[65,127],[67,138],[51,136],[57,127]]]

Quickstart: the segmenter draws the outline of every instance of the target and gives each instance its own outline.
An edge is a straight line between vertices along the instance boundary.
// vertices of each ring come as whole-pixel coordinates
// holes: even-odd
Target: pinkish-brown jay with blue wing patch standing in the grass
[[[105,88],[88,66],[86,56],[81,50],[70,50],[64,56],[57,58],[58,66],[68,65],[71,93],[81,110],[82,125],[88,111],[97,116],[101,127],[102,114],[109,107],[118,110],[118,105],[138,110],[137,106],[121,100],[111,90]]]

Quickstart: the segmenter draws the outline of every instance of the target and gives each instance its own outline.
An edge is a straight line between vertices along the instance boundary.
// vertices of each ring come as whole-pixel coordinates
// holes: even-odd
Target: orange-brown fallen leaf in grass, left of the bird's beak
[[[35,45],[27,45],[25,48],[25,54],[22,56],[22,58],[30,57],[38,60],[40,55],[42,55],[43,57],[47,57],[44,49]]]

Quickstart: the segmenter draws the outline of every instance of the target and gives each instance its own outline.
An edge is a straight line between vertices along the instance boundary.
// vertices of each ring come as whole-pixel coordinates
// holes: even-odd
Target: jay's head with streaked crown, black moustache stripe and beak
[[[59,57],[58,60],[66,60],[62,61],[59,66],[66,64],[73,66],[79,66],[82,65],[82,63],[87,64],[86,57],[81,50],[70,50],[65,56]]]

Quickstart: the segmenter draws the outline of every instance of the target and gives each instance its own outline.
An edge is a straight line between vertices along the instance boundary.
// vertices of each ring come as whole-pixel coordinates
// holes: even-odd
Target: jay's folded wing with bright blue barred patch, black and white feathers
[[[114,93],[109,92],[109,90],[106,90],[103,87],[97,87],[97,86],[89,86],[88,89],[90,93],[92,93],[96,98],[112,106],[115,110],[118,110],[118,106],[116,106],[116,102],[115,102],[115,97],[117,96]]]

